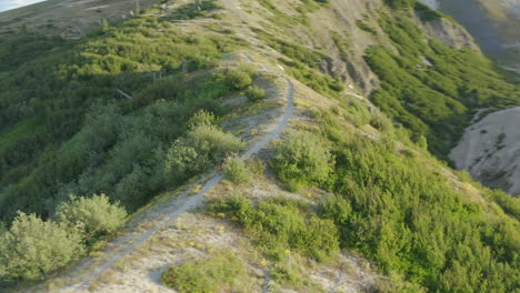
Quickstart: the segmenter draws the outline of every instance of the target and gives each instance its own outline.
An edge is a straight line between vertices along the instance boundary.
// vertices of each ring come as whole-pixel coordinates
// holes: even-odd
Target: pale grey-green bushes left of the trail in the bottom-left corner
[[[70,198],[58,206],[56,221],[19,212],[10,229],[0,231],[0,284],[39,280],[81,257],[92,238],[116,232],[126,215],[103,194]]]

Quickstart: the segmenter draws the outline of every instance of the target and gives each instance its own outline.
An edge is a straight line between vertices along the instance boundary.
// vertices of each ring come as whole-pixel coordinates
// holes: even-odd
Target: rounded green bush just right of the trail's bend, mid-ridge
[[[288,132],[274,152],[274,172],[290,190],[324,183],[332,171],[333,156],[323,139],[311,132]]]

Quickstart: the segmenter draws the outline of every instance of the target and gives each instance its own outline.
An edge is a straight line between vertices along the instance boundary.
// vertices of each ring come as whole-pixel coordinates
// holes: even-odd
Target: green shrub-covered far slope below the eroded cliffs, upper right
[[[444,158],[477,109],[520,104],[514,77],[469,49],[426,42],[408,12],[382,14],[380,24],[400,54],[384,47],[367,51],[364,58],[381,80],[370,99],[412,130],[414,141],[426,137],[436,155]],[[433,65],[422,64],[420,57]]]

